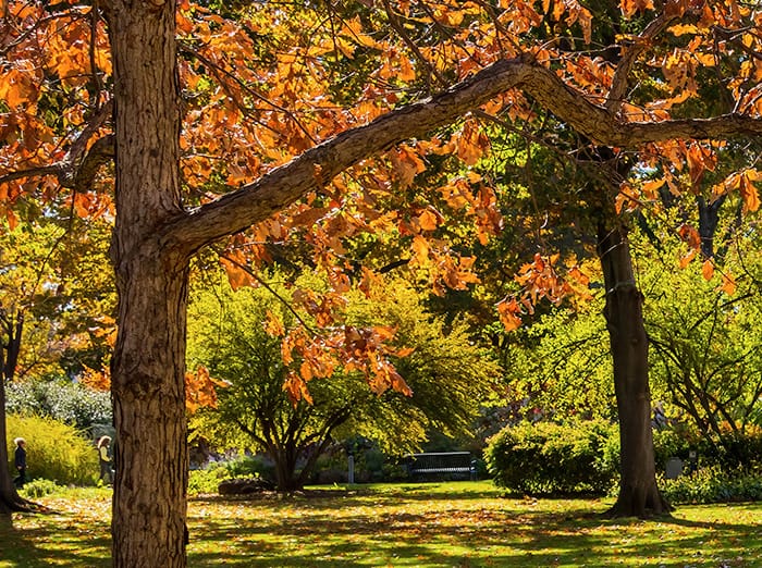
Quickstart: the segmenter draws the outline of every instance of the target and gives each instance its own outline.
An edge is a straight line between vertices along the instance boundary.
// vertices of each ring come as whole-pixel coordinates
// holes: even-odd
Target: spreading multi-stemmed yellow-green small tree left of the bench
[[[312,285],[314,286],[314,285]],[[276,294],[276,296],[273,294]],[[218,447],[259,449],[273,460],[278,487],[300,489],[317,458],[341,435],[364,435],[400,455],[420,448],[430,431],[468,436],[497,368],[470,344],[462,324],[446,331],[401,281],[378,284],[371,297],[353,294],[345,333],[394,332],[396,369],[411,390],[371,392],[351,361],[310,382],[309,400],[283,388],[304,360],[284,363],[279,333],[296,318],[291,294],[273,282],[231,292],[226,282],[195,294],[189,307],[188,360],[218,382],[217,404],[192,416],[190,428]],[[358,361],[359,363],[360,361]]]

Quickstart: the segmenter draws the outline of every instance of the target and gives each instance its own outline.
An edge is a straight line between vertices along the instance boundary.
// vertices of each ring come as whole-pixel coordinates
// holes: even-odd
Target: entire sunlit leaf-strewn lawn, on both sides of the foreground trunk
[[[109,561],[109,490],[39,499],[57,513],[0,529],[0,568]],[[193,498],[188,566],[762,567],[762,504],[603,519],[611,501],[515,499],[489,482],[358,485],[308,496]]]

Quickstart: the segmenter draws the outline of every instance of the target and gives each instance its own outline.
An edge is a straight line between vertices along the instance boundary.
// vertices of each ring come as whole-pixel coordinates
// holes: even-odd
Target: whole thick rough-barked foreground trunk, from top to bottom
[[[119,335],[113,566],[186,566],[185,318],[190,251],[162,237],[182,215],[174,1],[112,4]]]

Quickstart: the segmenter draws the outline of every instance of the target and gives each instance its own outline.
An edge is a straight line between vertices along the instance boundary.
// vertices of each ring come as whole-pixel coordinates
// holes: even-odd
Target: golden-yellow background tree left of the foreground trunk
[[[25,214],[32,220],[13,218],[0,232],[0,423],[11,382],[71,380],[83,365],[101,368],[114,323],[113,282],[103,271],[106,225],[91,221],[87,231],[74,232],[66,229],[71,218]],[[0,486],[0,508],[25,506],[5,470]]]

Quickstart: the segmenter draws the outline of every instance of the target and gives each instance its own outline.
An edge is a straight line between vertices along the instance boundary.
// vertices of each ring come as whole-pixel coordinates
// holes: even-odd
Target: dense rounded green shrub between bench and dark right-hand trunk
[[[484,460],[495,483],[511,491],[605,493],[617,477],[613,436],[615,427],[603,421],[523,422],[493,436]]]

